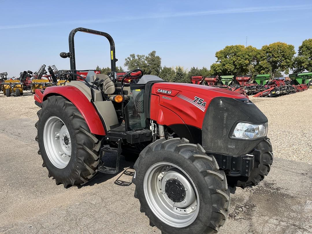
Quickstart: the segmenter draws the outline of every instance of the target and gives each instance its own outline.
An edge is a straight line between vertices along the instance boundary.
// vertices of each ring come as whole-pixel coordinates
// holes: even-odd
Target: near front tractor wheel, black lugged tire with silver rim
[[[134,197],[141,203],[140,212],[162,233],[217,233],[225,223],[230,204],[226,176],[215,158],[205,153],[202,146],[184,138],[159,139],[134,164]],[[189,205],[191,198],[195,203]]]

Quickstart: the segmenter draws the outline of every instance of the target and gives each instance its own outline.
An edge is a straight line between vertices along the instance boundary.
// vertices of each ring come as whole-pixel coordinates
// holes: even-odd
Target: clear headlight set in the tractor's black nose
[[[268,132],[268,123],[247,124],[238,123],[232,133],[232,138],[255,139],[265,137]]]

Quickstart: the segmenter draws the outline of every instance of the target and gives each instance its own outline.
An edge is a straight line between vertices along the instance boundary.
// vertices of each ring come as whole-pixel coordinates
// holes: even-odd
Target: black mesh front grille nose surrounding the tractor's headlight
[[[202,146],[207,152],[230,155],[248,154],[261,139],[230,139],[238,122],[260,124],[267,122],[266,116],[248,99],[216,97],[208,106],[202,124]]]

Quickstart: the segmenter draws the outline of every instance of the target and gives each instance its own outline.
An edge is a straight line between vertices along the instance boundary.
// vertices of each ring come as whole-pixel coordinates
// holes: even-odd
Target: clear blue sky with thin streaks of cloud
[[[92,3],[91,3],[92,2]],[[283,41],[298,50],[312,37],[311,1],[20,1],[0,0],[0,72],[9,77],[42,64],[69,69],[68,34],[76,27],[109,33],[117,66],[155,50],[164,66],[206,66],[227,45],[257,48]],[[77,69],[110,66],[105,38],[78,32]]]

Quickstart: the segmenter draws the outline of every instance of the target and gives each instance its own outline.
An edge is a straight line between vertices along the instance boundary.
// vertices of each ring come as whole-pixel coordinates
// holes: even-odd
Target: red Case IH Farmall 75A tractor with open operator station
[[[111,77],[77,81],[74,35],[110,42]],[[70,82],[36,90],[39,151],[65,188],[96,173],[118,173],[120,154],[139,154],[134,197],[163,233],[216,233],[227,219],[231,186],[256,185],[273,161],[266,116],[244,95],[169,83],[135,69],[115,79],[115,44],[105,33],[69,35]],[[124,79],[131,74],[133,82]],[[136,73],[138,74],[138,73]],[[116,167],[105,163],[116,155]]]

